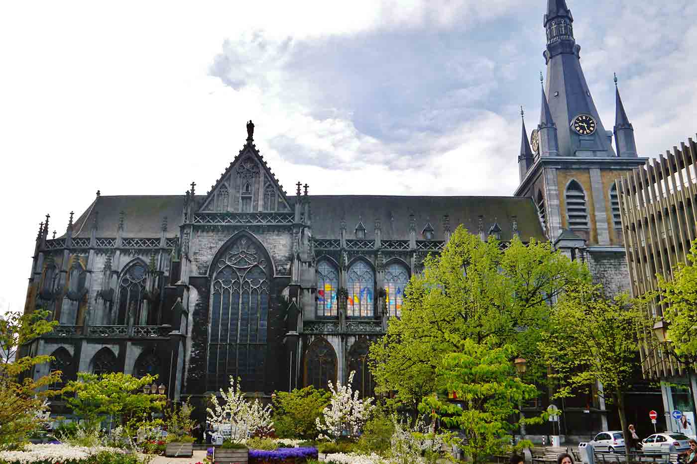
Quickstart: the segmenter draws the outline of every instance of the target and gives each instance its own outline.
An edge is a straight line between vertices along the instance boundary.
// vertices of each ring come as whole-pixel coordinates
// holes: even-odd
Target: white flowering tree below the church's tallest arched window
[[[262,405],[259,399],[253,402],[245,399],[245,393],[240,387],[240,379],[230,376],[230,387],[225,392],[220,389],[222,404],[216,395],[210,397],[213,409],[208,410],[208,422],[218,433],[230,429],[230,440],[243,443],[252,434],[268,435],[273,432],[271,405]]]

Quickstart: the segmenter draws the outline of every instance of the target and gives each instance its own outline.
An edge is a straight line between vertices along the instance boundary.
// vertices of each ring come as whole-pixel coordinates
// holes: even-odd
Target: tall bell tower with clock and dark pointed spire
[[[601,120],[581,68],[581,47],[566,0],[548,0],[539,125],[530,134],[533,162],[521,171],[515,194],[530,196],[552,242],[583,240],[592,252],[622,253],[615,178],[645,158],[637,155],[634,127],[617,90],[614,130]],[[612,85],[608,76],[608,85]],[[613,135],[620,148],[613,147]],[[525,143],[525,141],[523,141]],[[562,232],[565,232],[562,235]],[[577,246],[577,245],[574,245]]]

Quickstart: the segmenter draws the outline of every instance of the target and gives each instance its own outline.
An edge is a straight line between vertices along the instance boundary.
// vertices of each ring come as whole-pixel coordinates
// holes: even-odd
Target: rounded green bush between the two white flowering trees
[[[273,399],[273,425],[279,438],[314,440],[319,432],[315,425],[322,410],[329,405],[331,394],[312,385],[292,392],[276,392]]]

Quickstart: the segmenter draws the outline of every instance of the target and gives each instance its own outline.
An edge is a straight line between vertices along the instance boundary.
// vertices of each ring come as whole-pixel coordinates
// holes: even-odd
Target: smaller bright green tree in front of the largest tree
[[[492,454],[505,451],[510,432],[519,426],[509,422],[519,412],[516,405],[537,396],[537,388],[516,376],[511,363],[516,351],[511,345],[499,346],[495,337],[483,343],[453,337],[452,342],[459,350],[443,356],[438,379],[440,387],[457,394],[459,405],[434,394],[422,400],[419,410],[440,417],[449,428],[464,431],[464,453],[474,463],[483,463]],[[533,424],[542,419],[521,421]]]

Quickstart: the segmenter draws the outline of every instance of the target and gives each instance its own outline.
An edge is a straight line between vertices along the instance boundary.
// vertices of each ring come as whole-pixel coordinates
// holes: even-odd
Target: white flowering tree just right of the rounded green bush
[[[329,382],[332,397],[329,405],[322,411],[322,417],[318,417],[315,422],[320,439],[336,440],[342,436],[342,431],[346,431],[349,437],[355,437],[367,422],[374,408],[373,399],[360,399],[358,390],[353,392],[351,382],[354,374],[355,371],[351,371],[347,385],[337,382],[335,387]]]

